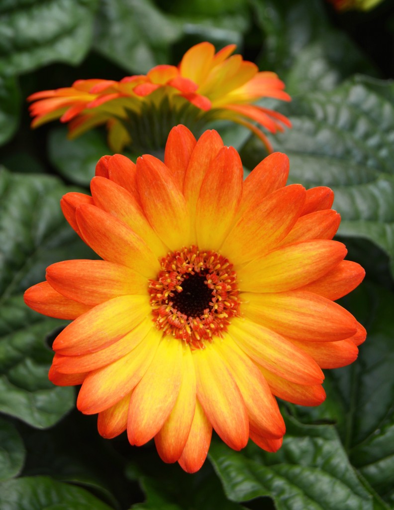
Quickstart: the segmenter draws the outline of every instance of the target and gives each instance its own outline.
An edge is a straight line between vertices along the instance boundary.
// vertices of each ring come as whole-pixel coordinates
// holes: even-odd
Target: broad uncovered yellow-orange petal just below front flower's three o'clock
[[[295,340],[334,342],[356,333],[356,320],[329,299],[302,291],[242,294],[248,319]]]

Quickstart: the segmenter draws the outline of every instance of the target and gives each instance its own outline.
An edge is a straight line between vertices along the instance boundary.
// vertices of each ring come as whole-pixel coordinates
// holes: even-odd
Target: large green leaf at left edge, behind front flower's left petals
[[[0,411],[39,428],[73,405],[73,389],[47,376],[45,337],[65,322],[33,312],[21,294],[44,279],[49,264],[90,257],[63,218],[59,200],[67,191],[53,177],[0,172]]]

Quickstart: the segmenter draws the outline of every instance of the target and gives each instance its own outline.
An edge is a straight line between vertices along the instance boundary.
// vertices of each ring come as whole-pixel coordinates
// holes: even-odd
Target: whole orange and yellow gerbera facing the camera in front
[[[364,328],[334,300],[362,280],[333,241],[329,188],[285,186],[274,153],[243,182],[238,152],[216,131],[170,132],[164,163],[104,156],[91,196],[67,193],[65,217],[102,260],[47,268],[25,293],[71,322],[49,378],[82,385],[77,407],[105,438],[154,438],[165,462],[203,464],[214,428],[235,450],[276,451],[275,400],[325,399],[322,368],[357,357]]]

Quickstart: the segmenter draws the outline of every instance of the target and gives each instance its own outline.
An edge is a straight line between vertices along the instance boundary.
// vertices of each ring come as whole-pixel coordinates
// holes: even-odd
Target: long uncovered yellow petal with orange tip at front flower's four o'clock
[[[297,384],[320,384],[324,379],[311,356],[271,329],[233,319],[229,334],[250,358],[274,374]]]

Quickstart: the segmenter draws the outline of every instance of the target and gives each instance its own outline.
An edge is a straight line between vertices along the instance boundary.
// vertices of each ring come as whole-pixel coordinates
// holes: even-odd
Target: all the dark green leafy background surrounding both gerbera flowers
[[[343,304],[369,338],[355,364],[327,371],[324,404],[283,406],[281,450],[234,452],[214,440],[213,467],[191,476],[152,444],[101,439],[95,417],[70,412],[74,390],[47,380],[65,321],[25,308],[22,292],[51,263],[95,257],[59,199],[70,185],[87,188],[109,149],[100,130],[72,142],[58,122],[31,131],[25,98],[177,64],[203,40],[236,43],[294,97],[275,104],[293,129],[271,141],[290,156],[291,182],[335,191],[339,234],[367,273]],[[0,2],[1,510],[394,508],[393,40],[390,0],[346,14],[324,0]],[[215,127],[248,169],[265,156],[242,127]]]

